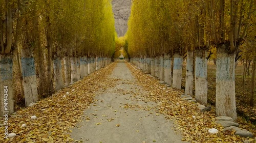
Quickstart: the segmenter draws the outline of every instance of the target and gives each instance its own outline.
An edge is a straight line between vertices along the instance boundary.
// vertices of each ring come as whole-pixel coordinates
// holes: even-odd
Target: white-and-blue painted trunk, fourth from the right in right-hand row
[[[183,58],[178,53],[174,54],[173,88],[181,89]]]

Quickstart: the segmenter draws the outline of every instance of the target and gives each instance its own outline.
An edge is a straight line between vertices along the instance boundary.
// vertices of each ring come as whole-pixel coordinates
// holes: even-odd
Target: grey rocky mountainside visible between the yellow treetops
[[[113,13],[118,37],[124,36],[127,31],[127,21],[131,13],[131,0],[113,0]]]

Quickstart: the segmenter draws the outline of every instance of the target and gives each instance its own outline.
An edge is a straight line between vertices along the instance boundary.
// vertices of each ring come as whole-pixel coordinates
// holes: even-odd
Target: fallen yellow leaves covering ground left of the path
[[[36,105],[18,110],[16,116],[8,120],[8,132],[16,133],[16,137],[4,139],[5,127],[0,127],[0,142],[74,141],[69,135],[72,132],[70,129],[82,119],[90,121],[90,118],[83,116],[83,110],[94,102],[96,92],[103,93],[114,87],[115,79],[108,77],[115,66],[116,63],[113,63],[101,68],[51,97],[38,101]],[[37,118],[32,120],[31,116]],[[23,124],[27,127],[22,127]]]

